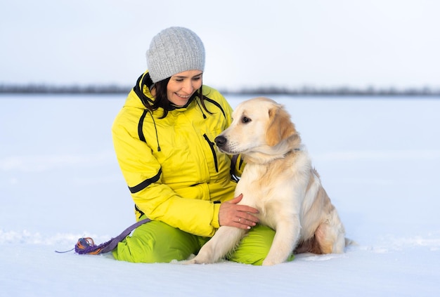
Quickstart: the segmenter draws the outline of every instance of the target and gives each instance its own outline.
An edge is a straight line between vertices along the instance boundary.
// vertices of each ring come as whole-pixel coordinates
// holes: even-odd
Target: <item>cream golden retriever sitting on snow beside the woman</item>
[[[259,223],[276,231],[262,265],[295,253],[343,253],[344,225],[311,165],[285,107],[252,98],[236,107],[231,126],[215,138],[219,150],[246,162],[235,197],[259,210]],[[188,263],[215,263],[233,251],[245,230],[221,226]]]

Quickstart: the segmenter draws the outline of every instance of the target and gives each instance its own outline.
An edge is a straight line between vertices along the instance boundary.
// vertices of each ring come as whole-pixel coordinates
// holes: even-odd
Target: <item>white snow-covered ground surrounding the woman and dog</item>
[[[125,96],[2,95],[0,296],[440,296],[440,100],[272,98],[357,246],[274,267],[55,253],[134,223],[110,134]]]

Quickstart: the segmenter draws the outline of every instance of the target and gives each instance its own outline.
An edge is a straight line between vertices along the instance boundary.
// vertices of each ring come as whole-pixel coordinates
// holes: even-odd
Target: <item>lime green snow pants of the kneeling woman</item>
[[[269,227],[252,227],[227,260],[261,265],[274,236],[275,231]],[[151,221],[137,227],[131,236],[119,242],[112,254],[116,260],[134,263],[169,263],[197,254],[208,240],[209,237],[191,235],[165,223]],[[288,260],[293,258],[292,255]]]

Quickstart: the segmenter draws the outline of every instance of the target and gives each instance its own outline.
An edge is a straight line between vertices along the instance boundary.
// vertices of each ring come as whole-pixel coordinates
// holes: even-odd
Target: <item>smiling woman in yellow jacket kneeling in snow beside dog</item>
[[[261,264],[274,232],[257,225],[256,209],[238,205],[231,157],[214,138],[231,124],[231,107],[202,85],[205,48],[189,29],[169,27],[147,51],[139,77],[112,126],[115,152],[135,204],[150,218],[119,242],[117,260],[185,260],[221,225],[249,229],[229,260]],[[236,169],[240,171],[240,162]]]

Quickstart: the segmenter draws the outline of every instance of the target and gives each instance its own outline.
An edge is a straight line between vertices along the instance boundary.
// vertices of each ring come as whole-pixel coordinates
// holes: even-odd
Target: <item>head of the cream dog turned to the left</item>
[[[283,105],[268,98],[253,98],[235,108],[231,126],[215,138],[228,154],[285,154],[299,145],[299,135]],[[296,140],[295,144],[292,141]]]

